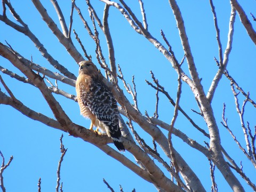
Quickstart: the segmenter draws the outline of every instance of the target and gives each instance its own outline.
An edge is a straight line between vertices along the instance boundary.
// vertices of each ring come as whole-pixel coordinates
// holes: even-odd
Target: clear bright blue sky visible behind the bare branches
[[[240,2],[242,3],[242,1]],[[50,1],[42,1],[42,3],[52,19],[60,26]],[[65,15],[66,22],[69,25],[70,1],[59,1],[59,4]],[[72,73],[77,74],[78,66],[74,59],[70,57],[65,48],[58,43],[58,39],[52,34],[51,30],[47,28],[33,3],[27,0],[12,1],[12,5],[53,58],[58,60],[61,65],[67,67]],[[84,17],[89,21],[93,29],[85,1],[79,3],[77,1],[77,5],[82,10]],[[97,10],[99,17],[102,18],[104,3],[92,1],[92,5]],[[138,1],[129,3],[129,5],[131,9],[134,10],[135,14],[138,15],[138,18],[141,19]],[[167,39],[169,39],[172,45],[177,59],[181,61],[183,50],[168,1],[159,1],[157,3],[145,1],[144,5],[150,33],[164,44],[160,34],[160,30],[163,29]],[[178,5],[180,6],[183,19],[185,20],[186,31],[199,76],[202,78],[204,90],[207,91],[218,70],[213,59],[214,57],[218,58],[218,44],[215,38],[210,4],[208,1],[178,1]],[[214,1],[214,5],[218,16],[221,42],[223,49],[225,49],[227,44],[230,5],[228,1]],[[255,1],[243,2],[242,6],[249,17],[250,12],[256,15]],[[1,14],[2,10],[3,8],[1,7]],[[11,17],[9,13],[8,16]],[[251,22],[255,27],[256,22],[252,20]],[[84,29],[75,10],[73,28],[84,43],[87,53],[91,54],[93,61],[97,63],[94,42],[87,35],[87,31]],[[126,22],[123,15],[114,7],[110,7],[109,28],[115,46],[116,63],[122,67],[127,82],[131,84],[132,75],[135,76],[140,111],[143,114],[144,111],[147,110],[148,114],[153,116],[155,110],[155,91],[145,83],[145,79],[151,81],[149,71],[152,70],[154,72],[156,78],[159,79],[159,82],[174,99],[177,91],[177,74],[172,69],[171,64],[163,57],[162,53],[143,36],[135,33],[129,23]],[[72,34],[72,36],[73,42],[77,45],[74,34]],[[103,37],[102,33],[100,37]],[[101,39],[103,54],[108,62],[105,38],[103,37]],[[11,27],[5,25],[5,23],[0,22],[0,42],[5,44],[5,41],[12,45],[13,49],[18,51],[23,57],[30,59],[32,55],[35,63],[56,71],[50,66],[47,60],[42,57],[41,53],[39,53],[28,37],[18,33]],[[79,51],[82,53],[81,49],[79,49]],[[233,49],[230,54],[227,69],[230,75],[236,79],[246,92],[250,91],[250,97],[254,99],[254,101],[256,100],[256,90],[254,86],[254,74],[256,70],[255,55],[255,45],[246,34],[237,15]],[[22,75],[9,61],[2,57],[0,57],[0,66]],[[183,64],[183,70],[187,71],[186,62]],[[35,87],[18,82],[2,73],[0,74],[15,97],[22,101],[24,105],[53,117],[50,108],[47,106],[41,93]],[[0,88],[4,91],[2,84]],[[71,94],[75,94],[74,87],[59,83],[59,88]],[[54,95],[54,97],[57,98],[63,109],[75,123],[89,127],[90,121],[84,119],[79,114],[79,108],[76,102],[68,100],[61,95]],[[127,95],[127,97],[132,101],[129,95]],[[244,97],[239,97],[239,99],[239,101],[242,102]],[[226,77],[221,79],[220,86],[213,99],[214,115],[219,125],[221,142],[237,164],[242,161],[244,172],[256,183],[255,169],[250,165],[249,161],[244,158],[242,151],[239,151],[236,143],[230,137],[229,133],[227,133],[227,130],[220,124],[223,102],[226,103],[226,117],[228,118],[229,126],[245,147],[242,128],[239,124],[239,117],[235,109],[234,97]],[[182,84],[180,105],[195,119],[198,125],[207,131],[203,119],[190,110],[198,110],[198,108],[194,100],[194,95],[185,83]],[[39,177],[42,179],[42,191],[55,190],[57,181],[56,171],[61,155],[59,138],[62,132],[47,127],[40,122],[31,120],[10,106],[1,105],[0,114],[0,150],[5,156],[6,162],[11,155],[14,157],[11,165],[4,172],[6,190],[36,191]],[[170,123],[172,116],[173,106],[170,105],[169,101],[163,95],[160,95],[159,118],[166,123]],[[244,117],[245,121],[250,122],[251,128],[253,129],[256,124],[255,109],[253,109],[249,103],[246,106],[246,114]],[[134,125],[135,129],[141,134],[141,137],[151,143],[151,138],[143,133],[138,125],[135,123]],[[201,133],[195,131],[182,115],[179,115],[175,127],[185,132],[190,138],[197,140],[202,145],[204,145],[204,141],[207,141]],[[105,178],[116,191],[119,190],[119,185],[122,185],[124,191],[131,191],[133,188],[135,188],[136,191],[156,191],[151,183],[140,179],[135,173],[105,155],[101,150],[90,143],[71,137],[67,133],[64,133],[63,143],[65,147],[68,148],[61,166],[61,182],[63,182],[64,191],[109,191],[102,181],[103,178]],[[210,191],[211,180],[209,177],[210,170],[207,159],[198,151],[189,148],[186,143],[183,143],[179,138],[173,138],[173,145],[196,174],[198,174],[205,189]],[[124,155],[131,157],[131,154],[128,152]],[[133,157],[131,157],[131,159],[133,159]],[[2,162],[1,158],[0,162]],[[215,173],[219,190],[231,191],[219,171],[216,170]],[[167,174],[168,173],[166,173],[166,175]],[[240,177],[238,178],[246,191],[252,191]]]

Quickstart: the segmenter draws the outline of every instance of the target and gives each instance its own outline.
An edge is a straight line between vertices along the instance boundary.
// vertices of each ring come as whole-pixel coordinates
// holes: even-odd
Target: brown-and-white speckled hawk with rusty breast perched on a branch
[[[118,150],[125,150],[119,129],[117,102],[100,79],[99,71],[92,61],[79,62],[79,75],[76,79],[77,101],[81,114],[91,119],[93,126],[105,131]]]

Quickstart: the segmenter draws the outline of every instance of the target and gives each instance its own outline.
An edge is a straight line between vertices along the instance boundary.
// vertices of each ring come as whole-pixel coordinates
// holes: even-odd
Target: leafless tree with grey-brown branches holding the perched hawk
[[[227,70],[227,65],[229,61],[229,54],[233,45],[233,35],[234,35],[234,23],[238,21],[238,17],[241,23],[244,25],[247,34],[251,38],[251,41],[256,44],[256,33],[252,27],[250,20],[254,20],[252,17],[245,13],[243,7],[239,5],[236,0],[230,1],[230,20],[229,20],[229,31],[226,37],[227,45],[223,47],[223,42],[220,38],[220,29],[218,26],[217,13],[215,12],[215,7],[213,1],[210,0],[209,4],[212,9],[213,21],[215,32],[217,34],[218,43],[218,57],[214,58],[217,63],[217,73],[212,79],[210,87],[203,86],[202,79],[198,75],[196,62],[191,52],[191,46],[189,43],[189,38],[186,33],[185,22],[183,20],[180,8],[176,1],[169,0],[170,11],[174,15],[177,28],[179,31],[179,36],[181,40],[181,46],[183,48],[183,59],[179,61],[178,57],[174,54],[172,50],[171,43],[161,30],[162,38],[156,38],[150,33],[148,27],[148,22],[146,18],[146,11],[144,9],[144,4],[139,0],[138,7],[141,11],[141,15],[135,14],[135,12],[126,4],[123,0],[108,1],[101,0],[102,4],[105,5],[103,9],[103,18],[100,19],[98,16],[101,14],[102,10],[98,10],[93,7],[93,4],[89,0],[86,1],[87,9],[89,12],[90,20],[86,20],[84,14],[87,14],[87,10],[83,7],[79,7],[75,0],[71,1],[70,9],[71,12],[63,12],[61,7],[58,5],[57,1],[51,0],[51,3],[58,15],[59,24],[52,19],[51,15],[45,10],[45,7],[39,0],[32,0],[37,11],[41,14],[42,19],[47,24],[47,27],[52,31],[55,37],[58,38],[59,43],[65,47],[67,53],[75,60],[74,67],[77,67],[75,63],[83,60],[94,60],[97,65],[99,65],[102,70],[105,71],[104,83],[113,92],[116,100],[119,103],[119,111],[122,114],[122,134],[124,139],[125,149],[127,153],[131,153],[134,158],[128,158],[122,155],[115,149],[111,148],[108,143],[111,142],[107,135],[98,135],[95,132],[86,129],[82,125],[75,124],[72,119],[65,113],[62,106],[54,97],[54,94],[60,94],[67,99],[74,100],[74,105],[76,103],[76,96],[65,92],[58,86],[57,82],[62,82],[68,86],[75,86],[76,75],[71,73],[67,66],[61,65],[53,56],[47,52],[43,45],[43,42],[33,33],[31,28],[28,26],[26,21],[22,20],[10,3],[10,1],[2,0],[3,12],[0,15],[0,20],[2,23],[15,29],[17,33],[22,33],[26,35],[31,42],[37,47],[38,51],[41,52],[42,56],[54,67],[59,73],[54,73],[40,63],[35,63],[32,59],[28,59],[19,54],[19,50],[15,50],[14,45],[9,45],[7,42],[0,43],[0,54],[3,58],[6,58],[9,63],[20,70],[23,75],[18,75],[15,71],[11,71],[8,68],[1,67],[0,69],[5,76],[9,76],[17,79],[24,83],[28,83],[31,86],[38,89],[49,107],[54,114],[54,119],[50,118],[44,114],[38,113],[37,111],[25,106],[22,101],[19,100],[19,95],[14,95],[12,90],[8,87],[8,82],[1,78],[1,83],[7,93],[2,90],[0,92],[0,103],[4,105],[9,105],[14,109],[20,111],[23,115],[34,119],[36,121],[42,122],[46,126],[53,127],[63,132],[68,132],[74,137],[81,138],[84,141],[90,142],[92,145],[97,146],[99,149],[106,153],[107,155],[115,158],[117,161],[121,162],[124,166],[128,167],[131,171],[136,173],[138,177],[145,179],[146,181],[153,183],[153,185],[159,191],[206,191],[202,185],[202,181],[199,179],[198,175],[191,169],[191,166],[187,163],[185,158],[175,149],[175,143],[173,143],[173,137],[180,138],[185,142],[190,148],[198,150],[206,159],[210,162],[209,177],[212,180],[212,191],[218,191],[215,182],[214,169],[218,169],[222,177],[226,180],[230,188],[234,191],[244,191],[244,186],[241,183],[241,178],[256,191],[256,186],[253,183],[253,178],[246,175],[241,167],[237,165],[237,162],[232,158],[232,153],[228,151],[221,143],[220,129],[226,127],[234,142],[237,143],[238,147],[243,151],[246,158],[250,161],[251,165],[256,168],[256,153],[255,153],[255,138],[256,138],[256,126],[254,130],[251,128],[252,125],[244,118],[245,106],[250,105],[254,108],[256,103],[253,98],[250,97],[248,90],[243,90],[241,86],[238,85],[239,79],[234,79]],[[76,4],[77,3],[77,4]],[[147,2],[149,3],[149,2]],[[152,3],[152,2],[151,2]],[[160,3],[160,2],[158,2]],[[10,12],[9,12],[9,11]],[[119,14],[123,15],[125,22],[128,22],[135,33],[141,35],[146,41],[150,42],[155,46],[156,51],[162,53],[162,57],[166,58],[173,67],[173,70],[177,73],[177,94],[175,99],[166,91],[166,87],[158,81],[157,77],[151,71],[151,80],[147,80],[147,84],[151,86],[156,91],[156,106],[154,116],[150,116],[147,112],[142,114],[138,106],[137,99],[137,87],[134,82],[134,77],[132,78],[132,85],[126,82],[122,72],[122,64],[119,66],[116,62],[115,46],[112,41],[113,36],[109,29],[109,14],[110,10],[118,11]],[[11,13],[11,14],[10,14]],[[65,20],[63,15],[70,14],[69,25]],[[79,38],[78,31],[75,30],[77,26],[73,25],[74,15],[78,14],[81,19],[85,31],[87,31],[88,37],[95,42],[95,53],[88,52],[88,47],[83,43],[83,39]],[[238,14],[238,15],[236,15]],[[139,19],[141,17],[142,19]],[[251,19],[249,19],[251,17]],[[15,21],[13,20],[15,19]],[[60,26],[60,27],[58,27]],[[106,42],[106,50],[102,50],[101,42]],[[136,42],[134,42],[136,43]],[[79,51],[80,50],[80,51]],[[83,55],[81,54],[81,50]],[[103,53],[108,52],[108,59],[106,59]],[[214,55],[213,55],[214,56]],[[7,62],[7,61],[6,61]],[[145,65],[145,64],[141,64]],[[247,63],[247,65],[251,65]],[[187,67],[187,68],[186,68]],[[216,121],[215,109],[213,108],[212,101],[217,90],[221,78],[227,78],[230,81],[231,91],[234,93],[236,109],[238,113],[238,118],[241,120],[241,126],[246,145],[243,146],[242,142],[237,140],[236,135],[231,131],[231,127],[228,125],[227,116],[225,114],[226,106],[223,105],[222,112],[222,125]],[[5,77],[4,79],[8,79]],[[55,84],[52,83],[55,81]],[[50,84],[50,86],[49,86]],[[182,103],[180,102],[182,86],[189,86],[191,93],[194,95],[194,101],[198,105],[198,109],[193,111],[198,114],[197,118],[191,117],[191,111],[186,111],[182,109]],[[172,85],[174,86],[174,85]],[[125,93],[127,92],[127,93]],[[246,93],[247,92],[247,93]],[[238,93],[243,95],[239,99],[244,101],[238,101]],[[21,93],[22,94],[22,93]],[[173,115],[171,118],[171,123],[167,123],[159,119],[159,95],[163,94],[173,105]],[[131,100],[129,97],[131,96]],[[230,98],[232,99],[232,98]],[[33,101],[31,101],[33,102]],[[199,112],[198,112],[199,111]],[[255,112],[254,112],[255,113]],[[178,116],[179,115],[179,116]],[[179,117],[185,117],[191,124],[190,129],[194,129],[198,134],[202,134],[205,137],[205,143],[196,141],[194,138],[190,138],[186,131],[180,131],[175,128],[175,121]],[[202,118],[205,124],[198,125],[197,119]],[[237,117],[236,117],[237,118]],[[127,121],[127,125],[125,124]],[[138,126],[139,129],[143,130],[144,134],[150,135],[153,138],[153,143],[142,139],[141,134],[138,133],[138,129],[134,129],[134,125]],[[140,131],[141,132],[141,131]],[[64,149],[63,149],[64,150]],[[163,155],[159,155],[163,154]],[[156,159],[158,163],[155,163],[153,159]],[[4,166],[3,164],[3,167]],[[2,170],[2,169],[1,169]],[[169,172],[170,175],[166,175],[164,172]],[[2,173],[2,172],[1,172]],[[238,173],[238,174],[237,174]],[[1,174],[2,175],[2,174]],[[255,180],[255,179],[254,179]],[[41,183],[41,179],[39,180]],[[40,186],[38,184],[38,186]]]

